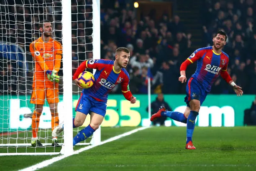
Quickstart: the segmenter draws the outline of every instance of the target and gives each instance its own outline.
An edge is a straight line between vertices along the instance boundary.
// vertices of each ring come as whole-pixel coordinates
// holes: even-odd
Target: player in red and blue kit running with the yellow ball
[[[95,83],[91,88],[83,89],[82,94],[77,102],[76,117],[73,118],[73,128],[82,126],[88,113],[90,113],[90,124],[79,131],[79,133],[73,138],[73,146],[84,141],[90,137],[102,123],[107,108],[108,93],[117,84],[121,84],[121,90],[123,96],[131,103],[136,103],[136,97],[134,97],[129,90],[130,77],[125,70],[126,65],[130,59],[130,52],[127,48],[118,48],[115,53],[115,61],[92,59],[85,60],[73,75],[73,80],[79,88],[78,75],[82,73],[85,68],[96,69],[94,74]],[[58,136],[64,128],[64,124],[54,128],[52,136]]]

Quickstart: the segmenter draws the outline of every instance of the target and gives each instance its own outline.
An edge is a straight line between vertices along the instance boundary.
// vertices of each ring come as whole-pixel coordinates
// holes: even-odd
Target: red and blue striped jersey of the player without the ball
[[[187,59],[191,63],[197,61],[197,70],[192,77],[201,83],[208,92],[210,92],[212,84],[220,75],[220,71],[227,70],[229,61],[225,52],[221,51],[217,54],[212,50],[212,46],[195,50]]]

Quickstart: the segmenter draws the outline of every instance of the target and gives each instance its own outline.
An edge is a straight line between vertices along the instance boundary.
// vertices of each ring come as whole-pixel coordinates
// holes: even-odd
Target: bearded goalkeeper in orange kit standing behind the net
[[[35,104],[32,116],[32,140],[31,145],[44,146],[37,138],[40,116],[43,111],[45,99],[49,103],[51,111],[51,129],[59,125],[57,106],[59,103],[59,76],[61,65],[61,43],[51,38],[52,25],[49,20],[39,24],[41,37],[30,44],[30,52],[35,61],[33,85],[30,103]],[[57,138],[53,137],[52,146],[59,146]]]

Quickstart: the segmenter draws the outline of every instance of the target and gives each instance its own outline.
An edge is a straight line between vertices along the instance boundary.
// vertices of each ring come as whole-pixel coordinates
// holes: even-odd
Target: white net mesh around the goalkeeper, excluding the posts
[[[72,0],[71,8],[74,74],[82,61],[92,59],[92,0]],[[62,44],[61,9],[60,0],[0,0],[0,153],[60,150],[31,147],[31,117],[35,106],[30,103],[30,98],[35,64],[29,45],[41,36],[41,20],[51,21],[52,38]],[[58,74],[63,76],[62,62]],[[80,93],[81,90],[73,84],[74,108]],[[60,123],[65,115],[62,94],[63,82],[60,79]],[[78,128],[74,129],[74,135],[77,131]],[[41,143],[51,146],[51,112],[47,101],[40,117],[38,138]],[[63,143],[63,134],[58,139]]]

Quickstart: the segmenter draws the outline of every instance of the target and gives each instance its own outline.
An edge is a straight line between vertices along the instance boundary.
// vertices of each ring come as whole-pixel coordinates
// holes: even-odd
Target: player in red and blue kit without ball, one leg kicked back
[[[187,83],[187,96],[185,97],[187,108],[184,113],[166,111],[165,108],[161,106],[159,111],[151,116],[151,121],[161,116],[167,116],[176,121],[187,123],[186,149],[196,149],[192,143],[195,120],[200,106],[205,101],[212,84],[219,75],[233,87],[237,96],[243,95],[242,88],[234,83],[227,72],[229,56],[222,51],[226,40],[226,33],[219,30],[212,39],[212,46],[195,50],[180,66],[181,76],[179,77],[179,81],[185,83],[187,81],[185,73],[187,66],[197,61],[197,70],[191,78],[189,78]]]

